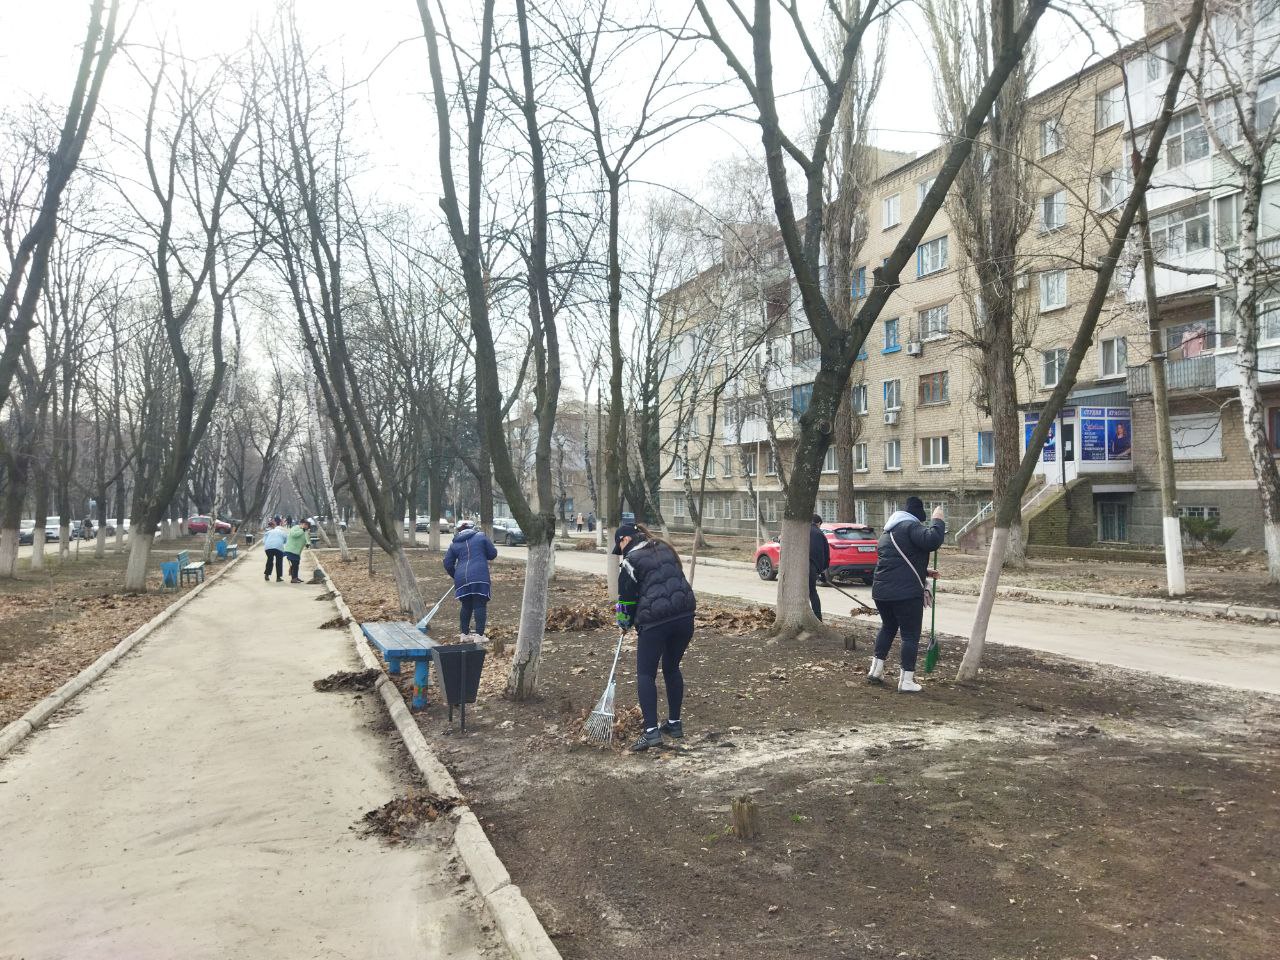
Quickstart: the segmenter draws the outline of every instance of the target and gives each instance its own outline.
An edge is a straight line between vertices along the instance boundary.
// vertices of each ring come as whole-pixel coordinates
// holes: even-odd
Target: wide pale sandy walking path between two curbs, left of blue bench
[[[310,575],[303,563],[303,575]],[[317,588],[250,554],[0,760],[0,957],[504,957],[434,842],[349,829],[404,792]]]

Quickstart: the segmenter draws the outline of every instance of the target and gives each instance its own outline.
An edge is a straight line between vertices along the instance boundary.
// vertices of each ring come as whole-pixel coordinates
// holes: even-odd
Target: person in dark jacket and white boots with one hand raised
[[[942,507],[933,511],[933,522],[924,525],[924,503],[919,497],[908,497],[906,509],[895,511],[884,524],[872,581],[872,599],[881,614],[876,655],[867,671],[867,680],[873,684],[884,682],[884,660],[895,635],[901,632],[902,672],[897,689],[904,694],[920,690],[915,682],[915,654],[924,620],[924,579],[928,576],[929,554],[942,545],[946,532]]]

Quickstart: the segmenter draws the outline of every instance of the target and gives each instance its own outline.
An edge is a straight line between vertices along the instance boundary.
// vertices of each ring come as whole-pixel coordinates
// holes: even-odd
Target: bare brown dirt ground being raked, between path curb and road
[[[413,562],[443,591],[439,554]],[[385,611],[387,564],[357,566],[329,568],[357,617]],[[521,582],[499,562],[499,634]],[[553,607],[603,607],[598,582],[562,575]],[[490,658],[466,735],[419,714],[567,960],[1275,956],[1280,701],[998,646],[960,686],[955,641],[909,698],[865,682],[865,627],[846,653],[718,620],[685,659],[678,746],[577,742],[608,626],[548,634],[535,703],[502,699]]]

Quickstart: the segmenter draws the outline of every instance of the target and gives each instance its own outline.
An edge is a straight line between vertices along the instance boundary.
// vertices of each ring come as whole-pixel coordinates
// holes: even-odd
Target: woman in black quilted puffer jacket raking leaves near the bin
[[[622,557],[618,570],[618,626],[636,628],[636,694],[644,714],[644,733],[634,751],[662,745],[662,735],[685,735],[680,708],[685,676],[680,660],[694,639],[698,602],[685,577],[680,556],[666,540],[641,524],[623,524],[613,535],[613,553]],[[667,719],[658,723],[658,664],[667,687]]]

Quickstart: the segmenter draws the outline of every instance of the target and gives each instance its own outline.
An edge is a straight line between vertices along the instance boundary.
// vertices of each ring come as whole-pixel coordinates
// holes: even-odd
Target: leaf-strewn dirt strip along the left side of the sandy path
[[[174,600],[160,591],[160,562],[183,544],[156,544],[148,593],[120,593],[127,554],[92,544],[79,557],[45,561],[32,571],[19,559],[18,577],[0,580],[0,727],[79,673]],[[191,589],[189,586],[183,590]]]

